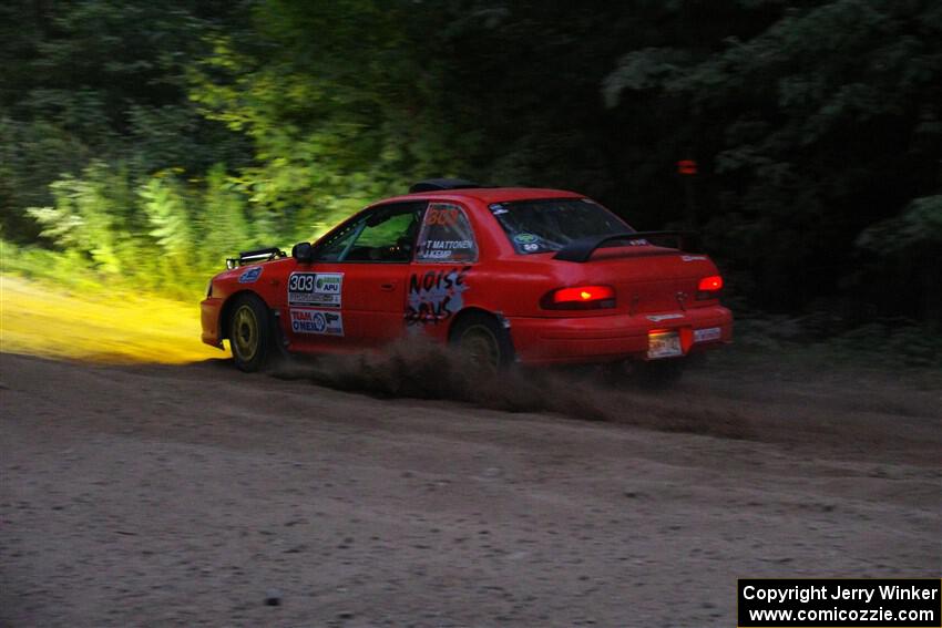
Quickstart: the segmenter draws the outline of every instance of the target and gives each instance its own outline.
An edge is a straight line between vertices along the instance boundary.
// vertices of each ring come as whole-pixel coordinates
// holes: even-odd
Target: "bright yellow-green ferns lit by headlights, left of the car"
[[[247,198],[222,166],[211,169],[207,182],[187,183],[163,171],[135,184],[126,168],[94,163],[81,178],[66,175],[50,187],[54,204],[27,214],[69,264],[49,264],[52,258],[33,248],[4,243],[4,270],[62,278],[64,268],[102,282],[194,298],[225,257],[258,243],[245,219]],[[11,259],[23,250],[25,260]]]

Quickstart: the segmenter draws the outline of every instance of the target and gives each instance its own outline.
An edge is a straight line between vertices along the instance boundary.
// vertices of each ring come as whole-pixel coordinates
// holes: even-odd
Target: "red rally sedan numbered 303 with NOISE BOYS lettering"
[[[426,334],[478,364],[679,364],[729,342],[705,255],[654,244],[583,195],[416,184],[316,243],[248,251],[213,277],[203,341],[244,371],[275,354],[338,353]]]

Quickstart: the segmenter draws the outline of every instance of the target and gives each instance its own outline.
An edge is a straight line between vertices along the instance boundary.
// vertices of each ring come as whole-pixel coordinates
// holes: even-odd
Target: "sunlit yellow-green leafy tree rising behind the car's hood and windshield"
[[[263,237],[308,237],[311,223],[336,222],[413,177],[410,102],[399,100],[409,54],[396,42],[396,14],[373,2],[269,2],[257,12],[260,52],[257,39],[243,51],[237,37],[221,35],[192,69],[201,112],[253,141],[255,164],[238,181]],[[380,63],[386,37],[392,50],[380,48]]]

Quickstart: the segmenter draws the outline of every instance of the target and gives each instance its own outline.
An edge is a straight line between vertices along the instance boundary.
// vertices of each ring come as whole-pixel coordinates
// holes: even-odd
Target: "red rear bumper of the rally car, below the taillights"
[[[685,356],[733,341],[733,313],[723,306],[634,316],[509,320],[518,360],[529,364],[644,360],[652,331],[677,330]]]

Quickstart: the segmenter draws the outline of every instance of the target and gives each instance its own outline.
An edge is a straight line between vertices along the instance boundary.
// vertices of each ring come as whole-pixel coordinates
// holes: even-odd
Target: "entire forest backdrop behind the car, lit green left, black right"
[[[739,308],[942,325],[934,0],[13,0],[0,30],[4,267],[188,290],[455,175],[696,228]]]

